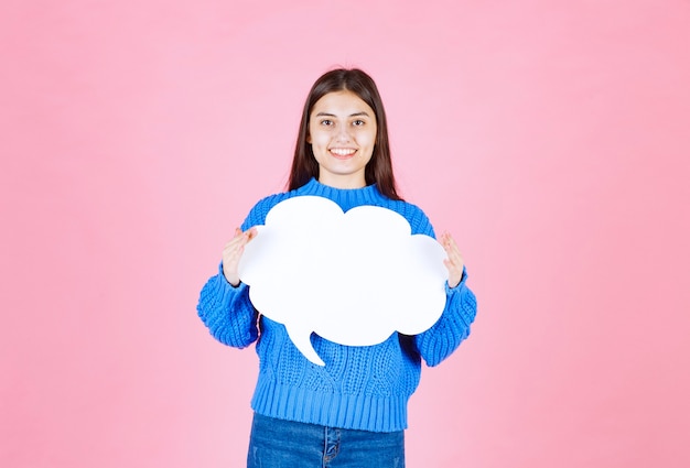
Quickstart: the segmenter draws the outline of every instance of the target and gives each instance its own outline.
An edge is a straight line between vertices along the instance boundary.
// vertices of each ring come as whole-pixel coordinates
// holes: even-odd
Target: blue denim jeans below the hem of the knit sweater
[[[254,415],[247,468],[405,468],[405,435]]]

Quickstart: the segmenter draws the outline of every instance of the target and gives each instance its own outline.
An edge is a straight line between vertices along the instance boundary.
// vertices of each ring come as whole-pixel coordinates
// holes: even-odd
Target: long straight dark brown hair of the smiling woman
[[[312,177],[319,177],[319,163],[312,152],[312,145],[308,143],[309,117],[312,108],[319,99],[328,92],[347,90],[354,92],[365,101],[376,116],[376,142],[371,160],[365,167],[365,182],[367,185],[376,184],[379,192],[390,199],[402,199],[396,191],[396,179],[392,173],[390,161],[390,145],[388,143],[388,124],[386,123],[386,112],[384,102],[374,79],[360,69],[337,68],[323,74],[309,91],[304,109],[298,141],[294,146],[294,157],[290,170],[288,189],[293,191],[306,184]]]

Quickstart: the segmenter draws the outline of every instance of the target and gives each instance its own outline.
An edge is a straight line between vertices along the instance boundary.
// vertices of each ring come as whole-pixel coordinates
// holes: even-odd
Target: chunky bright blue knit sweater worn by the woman
[[[301,195],[326,197],[343,211],[360,205],[388,208],[408,220],[413,235],[434,236],[421,209],[385,197],[375,185],[341,189],[313,178],[295,191],[260,200],[241,229],[263,225],[273,206]],[[197,311],[220,342],[244,348],[257,341],[259,378],[251,400],[257,413],[331,427],[393,432],[407,427],[407,403],[419,384],[421,359],[436,366],[470,334],[476,300],[465,285],[466,279],[465,272],[457,286],[451,289],[446,284],[448,298],[441,318],[420,335],[393,333],[380,345],[362,347],[337,345],[312,335],[312,345],[325,367],[306,360],[282,324],[261,316],[259,334],[258,312],[249,301],[249,286],[230,285],[223,275],[223,265],[204,285]]]

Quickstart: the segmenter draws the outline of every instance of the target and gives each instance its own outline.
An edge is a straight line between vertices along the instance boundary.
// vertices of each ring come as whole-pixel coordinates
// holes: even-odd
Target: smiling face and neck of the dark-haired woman
[[[337,188],[366,185],[365,167],[376,144],[376,116],[348,90],[328,92],[314,104],[306,142],[319,163],[319,182]]]

